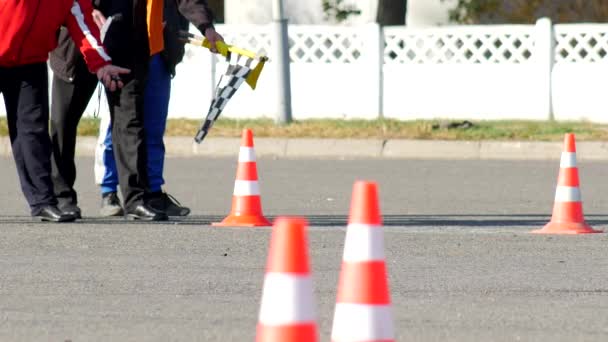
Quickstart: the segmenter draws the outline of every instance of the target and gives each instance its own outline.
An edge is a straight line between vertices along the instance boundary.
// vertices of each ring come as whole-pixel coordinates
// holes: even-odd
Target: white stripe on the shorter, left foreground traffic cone
[[[310,276],[266,273],[259,322],[264,325],[314,323]]]

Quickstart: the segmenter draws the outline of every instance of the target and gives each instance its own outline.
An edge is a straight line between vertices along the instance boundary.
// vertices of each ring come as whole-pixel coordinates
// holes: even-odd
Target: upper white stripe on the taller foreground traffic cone
[[[379,226],[351,223],[346,229],[343,261],[384,260],[384,238]]]

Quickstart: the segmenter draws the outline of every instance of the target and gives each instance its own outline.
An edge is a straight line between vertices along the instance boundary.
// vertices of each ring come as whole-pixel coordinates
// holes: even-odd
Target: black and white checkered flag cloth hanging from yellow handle
[[[207,117],[194,137],[194,140],[199,144],[209,133],[213,123],[226,107],[228,100],[232,98],[259,62],[257,59],[230,52],[226,56],[226,61],[228,62],[228,69],[220,78]]]

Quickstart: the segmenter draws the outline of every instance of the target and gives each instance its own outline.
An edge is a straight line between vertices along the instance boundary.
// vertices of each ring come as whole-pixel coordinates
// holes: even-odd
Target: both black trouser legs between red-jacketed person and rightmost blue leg
[[[146,66],[132,68],[131,74],[123,77],[122,89],[114,93],[106,91],[118,182],[127,210],[143,204],[148,193],[143,123],[146,72]],[[73,83],[53,78],[53,182],[59,201],[77,203],[74,189],[77,126],[96,85],[97,77],[89,73],[82,58],[76,64]]]

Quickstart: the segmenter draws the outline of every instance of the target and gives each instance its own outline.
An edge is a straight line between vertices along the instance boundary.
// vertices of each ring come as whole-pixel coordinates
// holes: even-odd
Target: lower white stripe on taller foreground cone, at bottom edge
[[[395,329],[389,305],[336,304],[333,342],[393,340]]]

